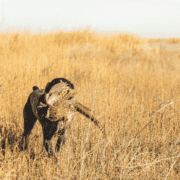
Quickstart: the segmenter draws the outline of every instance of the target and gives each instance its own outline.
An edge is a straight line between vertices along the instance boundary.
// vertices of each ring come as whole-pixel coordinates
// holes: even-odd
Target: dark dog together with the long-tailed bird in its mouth
[[[49,157],[56,157],[56,152],[65,144],[65,132],[71,128],[76,111],[91,119],[102,130],[91,110],[80,104],[74,94],[74,85],[65,78],[52,80],[45,89],[33,87],[23,110],[24,133],[20,141],[21,150],[28,149],[28,136],[37,119],[42,126],[43,145]],[[54,109],[57,109],[55,113]],[[57,140],[55,147],[54,139]]]

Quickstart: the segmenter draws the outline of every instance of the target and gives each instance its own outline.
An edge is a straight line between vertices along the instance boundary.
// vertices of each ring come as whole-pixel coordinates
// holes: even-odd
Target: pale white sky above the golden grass
[[[132,33],[180,38],[180,0],[0,0],[0,31]]]

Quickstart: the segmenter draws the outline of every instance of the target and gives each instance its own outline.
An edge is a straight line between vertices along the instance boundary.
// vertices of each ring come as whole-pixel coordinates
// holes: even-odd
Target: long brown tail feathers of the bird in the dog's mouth
[[[105,129],[101,127],[99,121],[94,117],[91,109],[87,108],[86,106],[82,105],[79,102],[73,104],[73,106],[76,109],[76,111],[78,111],[79,113],[83,114],[84,116],[89,118],[92,122],[94,122],[94,124],[102,131],[104,137],[106,137]]]

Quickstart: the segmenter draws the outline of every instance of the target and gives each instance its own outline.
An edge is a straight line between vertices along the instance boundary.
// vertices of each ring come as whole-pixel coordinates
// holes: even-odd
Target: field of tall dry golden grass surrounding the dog
[[[145,48],[161,41],[180,43],[88,29],[1,33],[0,177],[179,179],[180,51]],[[57,77],[75,85],[77,99],[94,110],[107,133],[104,139],[77,114],[58,165],[42,153],[39,122],[29,150],[17,148],[32,87],[44,88]]]

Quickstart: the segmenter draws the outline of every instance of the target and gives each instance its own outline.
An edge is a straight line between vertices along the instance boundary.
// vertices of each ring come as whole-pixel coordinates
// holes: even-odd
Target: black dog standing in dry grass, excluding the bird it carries
[[[46,94],[49,93],[50,89],[58,83],[66,83],[67,86],[71,89],[74,89],[74,85],[64,79],[57,78],[47,84],[45,89],[39,89],[37,86],[33,87],[33,92],[29,95],[27,103],[25,104],[23,115],[24,115],[24,133],[22,135],[22,140],[20,142],[20,149],[26,150],[28,148],[28,136],[31,133],[32,128],[34,127],[37,119],[42,125],[43,137],[44,137],[44,146],[49,156],[54,155],[54,151],[59,151],[61,143],[65,143],[65,127],[64,119],[52,122],[49,118],[46,117],[48,111],[48,105],[46,105]],[[45,106],[39,108],[41,104]],[[54,135],[58,136],[56,149],[52,147],[52,138]],[[25,143],[24,143],[25,140]]]

